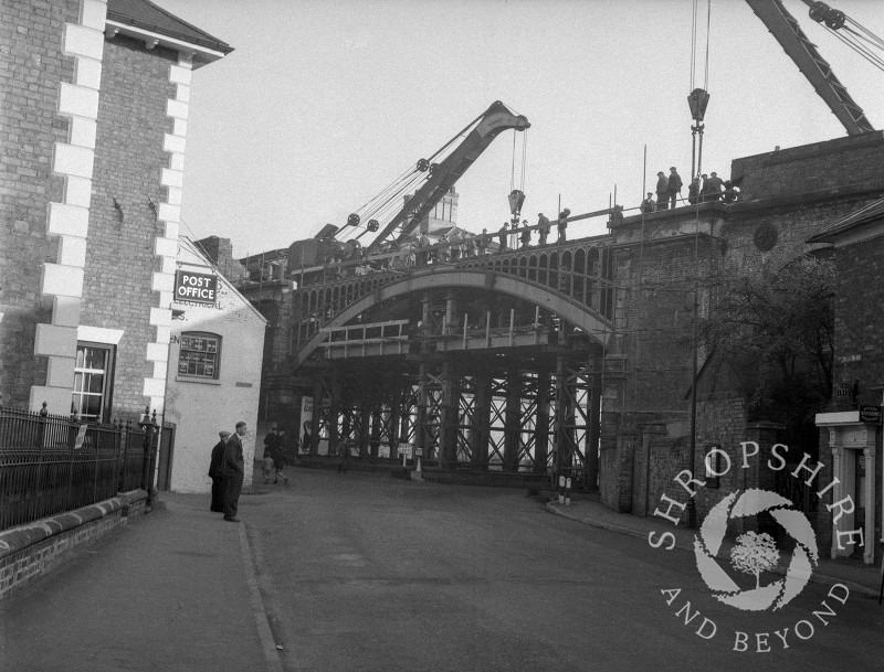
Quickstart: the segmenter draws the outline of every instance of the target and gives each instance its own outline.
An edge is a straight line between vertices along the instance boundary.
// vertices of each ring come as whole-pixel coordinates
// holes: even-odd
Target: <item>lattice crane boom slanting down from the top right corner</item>
[[[746,0],[746,2],[777,39],[832,114],[838,117],[848,135],[856,136],[873,131],[874,128],[865,118],[865,113],[851,98],[848,89],[835,77],[832,67],[808,40],[781,0]]]

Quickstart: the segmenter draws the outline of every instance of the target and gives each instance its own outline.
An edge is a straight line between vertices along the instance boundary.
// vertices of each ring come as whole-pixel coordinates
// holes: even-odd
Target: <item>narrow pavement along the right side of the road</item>
[[[569,506],[559,504],[554,500],[548,502],[546,506],[549,511],[558,515],[587,525],[592,525],[593,527],[619,532],[620,534],[649,540],[649,534],[655,533],[654,536],[651,537],[654,544],[661,543],[662,533],[672,532],[675,535],[675,548],[687,551],[692,554],[694,553],[694,538],[697,531],[687,527],[676,527],[659,516],[642,518],[627,513],[617,513],[600,502],[586,500],[571,500]],[[649,542],[649,544],[651,542]],[[666,547],[667,545],[669,542],[665,542],[661,547]],[[718,557],[729,557],[733,546],[733,542],[725,540],[722,544]],[[825,550],[821,548],[821,556],[823,553],[825,553]],[[781,558],[779,566],[775,568],[774,572],[786,574],[788,558]],[[864,565],[862,561],[853,558],[833,561],[828,557],[820,557],[819,564],[810,576],[810,580],[829,586],[841,583],[846,585],[851,591],[877,597],[882,586],[882,565]]]

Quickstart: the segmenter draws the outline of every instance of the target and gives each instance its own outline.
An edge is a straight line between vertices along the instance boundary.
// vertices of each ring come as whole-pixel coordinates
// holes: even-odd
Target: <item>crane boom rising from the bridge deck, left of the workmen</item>
[[[530,127],[524,116],[514,114],[499,100],[493,103],[476,121],[466,138],[434,167],[430,179],[414,192],[414,195],[371,242],[368,252],[376,252],[385,241],[401,239],[414,231],[421,220],[435,207],[442,196],[502,131],[508,128],[525,130]]]

